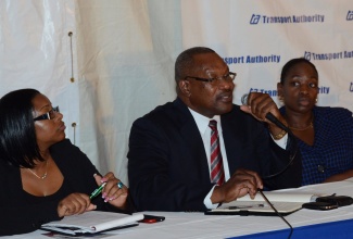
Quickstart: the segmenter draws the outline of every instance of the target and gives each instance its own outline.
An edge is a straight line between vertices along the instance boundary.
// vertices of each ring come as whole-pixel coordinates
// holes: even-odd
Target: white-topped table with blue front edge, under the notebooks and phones
[[[353,197],[353,178],[295,189],[310,193],[337,193]],[[277,216],[215,216],[203,213],[147,212],[165,221],[110,231],[113,238],[287,238],[290,229]],[[331,211],[302,209],[286,216],[293,227],[292,238],[353,238],[353,205]],[[48,238],[34,231],[9,238]],[[104,237],[105,238],[105,237]]]

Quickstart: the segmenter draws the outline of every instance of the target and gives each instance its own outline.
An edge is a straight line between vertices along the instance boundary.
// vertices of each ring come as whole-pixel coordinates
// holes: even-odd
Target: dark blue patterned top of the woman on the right
[[[282,115],[285,108],[280,109]],[[323,183],[326,178],[353,168],[353,117],[343,108],[315,106],[314,144],[302,140],[302,185]]]

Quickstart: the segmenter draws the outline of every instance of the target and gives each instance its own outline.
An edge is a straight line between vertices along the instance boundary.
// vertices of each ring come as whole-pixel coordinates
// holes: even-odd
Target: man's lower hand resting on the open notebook
[[[230,202],[247,193],[253,199],[257,189],[263,188],[263,183],[257,173],[248,169],[238,169],[229,180],[222,186],[215,187],[212,203]]]

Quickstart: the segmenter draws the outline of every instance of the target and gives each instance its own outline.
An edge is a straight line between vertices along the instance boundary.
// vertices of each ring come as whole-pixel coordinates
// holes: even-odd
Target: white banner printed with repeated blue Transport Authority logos
[[[318,104],[352,111],[353,2],[336,3],[182,1],[182,46],[207,46],[224,58],[238,73],[237,103],[249,91],[277,100],[281,67],[290,59],[306,58],[319,73]]]

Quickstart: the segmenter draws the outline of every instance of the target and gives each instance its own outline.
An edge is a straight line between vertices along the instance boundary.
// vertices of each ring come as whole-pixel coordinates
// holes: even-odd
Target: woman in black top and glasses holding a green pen
[[[68,139],[58,108],[35,89],[0,99],[0,236],[91,210],[128,212],[127,188],[103,177]],[[90,193],[106,181],[102,194]]]

